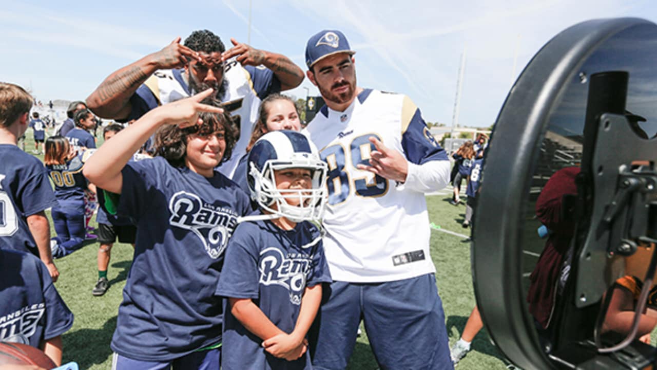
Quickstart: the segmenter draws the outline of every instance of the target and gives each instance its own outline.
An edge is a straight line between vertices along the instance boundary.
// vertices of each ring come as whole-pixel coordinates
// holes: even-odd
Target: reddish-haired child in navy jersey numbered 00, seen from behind
[[[62,136],[46,140],[43,162],[55,184],[57,205],[52,209],[52,216],[57,236],[51,240],[51,250],[53,257],[59,258],[83,246],[85,190],[95,192],[95,186],[82,175],[82,156],[76,155]]]

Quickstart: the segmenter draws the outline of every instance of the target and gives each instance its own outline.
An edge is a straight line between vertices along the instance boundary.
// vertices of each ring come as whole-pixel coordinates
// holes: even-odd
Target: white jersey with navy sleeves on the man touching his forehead
[[[158,70],[150,76],[130,98],[132,111],[127,120],[139,119],[144,113],[158,105],[183,99],[196,93],[189,90],[182,72],[181,69]],[[222,106],[231,113],[240,129],[240,137],[235,143],[231,159],[221,163],[217,170],[232,178],[238,161],[246,153],[246,145],[248,145],[251,131],[258,120],[260,101],[269,93],[281,91],[281,82],[271,70],[263,67],[242,66],[235,58],[226,61],[224,73],[228,86],[221,99]]]

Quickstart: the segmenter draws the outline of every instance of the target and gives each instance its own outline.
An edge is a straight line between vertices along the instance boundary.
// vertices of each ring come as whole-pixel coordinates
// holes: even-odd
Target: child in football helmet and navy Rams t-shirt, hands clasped
[[[228,297],[222,368],[311,369],[310,328],[331,282],[316,226],[327,167],[304,136],[265,134],[248,157],[260,209],[244,217],[226,251],[217,294]]]

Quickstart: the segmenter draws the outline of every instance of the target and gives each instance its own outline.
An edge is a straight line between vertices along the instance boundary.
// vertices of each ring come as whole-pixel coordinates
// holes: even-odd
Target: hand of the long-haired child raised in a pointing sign
[[[153,109],[160,116],[164,124],[177,124],[180,128],[202,124],[198,118],[200,112],[223,113],[223,109],[201,103],[203,99],[212,95],[213,89],[205,90],[186,99],[180,99]]]

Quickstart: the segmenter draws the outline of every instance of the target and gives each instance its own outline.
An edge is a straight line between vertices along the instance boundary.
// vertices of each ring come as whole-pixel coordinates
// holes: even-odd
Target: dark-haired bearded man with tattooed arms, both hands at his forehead
[[[254,49],[231,38],[226,50],[219,36],[194,31],[181,45],[176,38],[164,49],[110,74],[87,97],[96,115],[127,121],[150,109],[214,88],[240,129],[234,155],[219,167],[232,177],[246,153],[260,101],[269,93],[289,90],[304,80],[304,72],[284,55]]]

